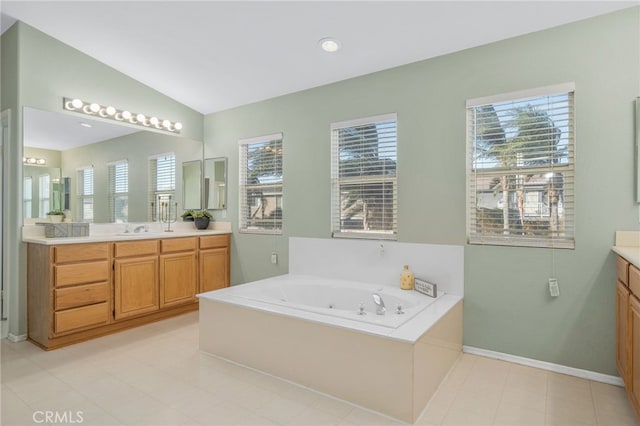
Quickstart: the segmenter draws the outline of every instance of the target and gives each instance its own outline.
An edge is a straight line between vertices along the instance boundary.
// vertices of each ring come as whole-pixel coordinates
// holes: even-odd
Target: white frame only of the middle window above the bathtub
[[[342,129],[358,128],[367,125],[379,125],[393,122],[394,125],[394,157],[395,172],[391,174],[376,174],[358,177],[340,178],[340,141],[339,132]],[[352,239],[376,239],[376,240],[397,240],[398,239],[398,114],[387,113],[369,117],[358,118],[331,123],[331,236],[332,238],[352,238]],[[389,231],[367,231],[348,230],[342,226],[342,211],[340,188],[341,185],[357,184],[386,184],[392,185],[392,225]]]

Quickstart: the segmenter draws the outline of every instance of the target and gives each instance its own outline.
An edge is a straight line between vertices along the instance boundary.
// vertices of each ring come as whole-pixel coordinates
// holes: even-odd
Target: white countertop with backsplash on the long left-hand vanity
[[[171,225],[173,232],[165,232],[163,229],[166,229],[166,225],[163,225],[162,227],[158,225],[159,224],[149,225],[149,232],[142,231],[138,233],[126,233],[126,225],[124,224],[91,224],[89,236],[69,238],[47,238],[44,236],[43,227],[37,225],[25,225],[22,229],[22,241],[25,243],[58,245],[202,237],[207,235],[223,235],[231,233],[231,224],[229,222],[216,221],[211,223],[208,229],[203,230],[195,229],[193,222],[176,222]],[[134,229],[135,226],[135,224],[129,224],[130,229]]]

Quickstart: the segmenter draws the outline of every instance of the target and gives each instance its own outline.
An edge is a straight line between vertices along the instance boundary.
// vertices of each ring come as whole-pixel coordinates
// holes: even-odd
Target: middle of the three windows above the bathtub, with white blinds
[[[331,125],[334,237],[396,239],[397,116]]]

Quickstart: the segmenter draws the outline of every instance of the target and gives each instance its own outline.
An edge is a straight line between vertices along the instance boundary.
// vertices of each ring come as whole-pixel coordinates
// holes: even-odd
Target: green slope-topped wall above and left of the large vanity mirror
[[[3,277],[8,288],[9,334],[20,338],[27,332],[26,245],[21,243],[22,108],[65,113],[62,98],[78,97],[180,121],[181,136],[199,141],[203,116],[23,22],[9,28],[1,42],[1,109],[11,111],[10,143],[3,153],[7,189]]]

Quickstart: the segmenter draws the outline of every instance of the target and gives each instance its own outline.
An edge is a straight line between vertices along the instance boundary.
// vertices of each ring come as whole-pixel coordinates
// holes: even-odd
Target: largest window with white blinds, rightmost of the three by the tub
[[[574,90],[467,101],[469,243],[575,247]]]

